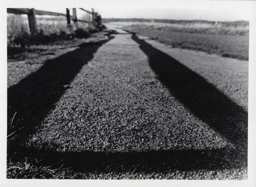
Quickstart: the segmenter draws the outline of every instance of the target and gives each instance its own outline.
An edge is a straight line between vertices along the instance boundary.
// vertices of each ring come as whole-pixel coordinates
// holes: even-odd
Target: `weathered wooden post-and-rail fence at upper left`
[[[67,26],[71,28],[71,20],[73,21],[74,25],[77,26],[77,22],[86,22],[89,24],[93,24],[96,29],[99,29],[101,26],[101,15],[98,14],[97,12],[94,12],[94,9],[92,8],[92,11],[88,11],[82,8],[79,8],[82,11],[85,11],[89,14],[92,14],[92,20],[91,21],[86,21],[86,20],[79,20],[77,19],[77,8],[73,8],[73,15],[70,15],[70,10],[66,8],[66,14],[63,13],[57,13],[57,12],[49,12],[49,11],[43,11],[43,10],[35,10],[34,8],[32,9],[24,9],[24,8],[19,8],[19,9],[12,9],[12,8],[7,8],[7,13],[14,13],[14,14],[27,14],[28,16],[28,25],[29,25],[29,30],[30,33],[33,35],[37,32],[37,27],[36,27],[36,17],[35,15],[55,15],[55,16],[64,16],[66,17],[67,20]]]

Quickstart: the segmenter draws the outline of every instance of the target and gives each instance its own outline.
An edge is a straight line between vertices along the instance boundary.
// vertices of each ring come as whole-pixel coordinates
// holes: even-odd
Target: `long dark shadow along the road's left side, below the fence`
[[[7,136],[9,144],[18,149],[46,115],[52,110],[82,66],[93,58],[93,54],[109,39],[96,43],[84,43],[80,48],[65,53],[44,65],[7,89]],[[12,140],[14,139],[14,141]]]

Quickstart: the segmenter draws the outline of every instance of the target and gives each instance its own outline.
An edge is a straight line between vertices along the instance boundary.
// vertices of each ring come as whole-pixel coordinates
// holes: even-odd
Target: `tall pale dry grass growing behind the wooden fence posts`
[[[39,16],[36,15],[37,30],[36,36],[31,37],[26,15],[7,15],[7,46],[22,46],[30,44],[48,44],[58,40],[71,40],[76,32],[84,32],[88,37],[92,25],[78,22],[75,26],[67,27],[65,17]],[[79,33],[79,34],[80,34]]]

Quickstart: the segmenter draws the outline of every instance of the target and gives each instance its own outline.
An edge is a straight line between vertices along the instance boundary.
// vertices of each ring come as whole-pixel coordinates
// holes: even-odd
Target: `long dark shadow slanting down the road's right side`
[[[171,94],[232,144],[247,150],[247,112],[204,77],[168,54],[154,48],[134,33],[132,39],[148,56],[149,66]],[[241,147],[240,147],[241,148]]]

